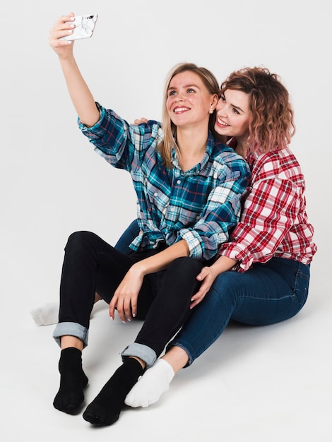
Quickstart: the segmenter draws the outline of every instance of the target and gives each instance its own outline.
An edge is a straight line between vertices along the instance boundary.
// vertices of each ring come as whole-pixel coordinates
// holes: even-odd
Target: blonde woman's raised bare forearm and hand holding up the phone
[[[74,14],[61,16],[49,31],[49,45],[59,57],[69,95],[78,117],[85,126],[93,126],[100,119],[100,112],[76,64],[73,56],[73,42],[59,40],[73,32],[73,28],[75,28]]]

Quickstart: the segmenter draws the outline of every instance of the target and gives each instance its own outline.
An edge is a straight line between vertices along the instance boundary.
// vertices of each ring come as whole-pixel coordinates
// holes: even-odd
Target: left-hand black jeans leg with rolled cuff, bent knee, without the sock
[[[95,292],[109,302],[132,263],[129,256],[91,232],[71,234],[61,274],[59,323],[54,330],[58,343],[61,336],[72,335],[87,345]]]

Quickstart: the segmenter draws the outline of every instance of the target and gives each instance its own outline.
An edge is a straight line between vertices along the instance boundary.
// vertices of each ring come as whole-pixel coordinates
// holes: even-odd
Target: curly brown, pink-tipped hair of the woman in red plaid
[[[277,74],[267,68],[243,68],[226,78],[221,94],[227,89],[249,95],[249,151],[266,153],[287,147],[295,133],[294,111]]]

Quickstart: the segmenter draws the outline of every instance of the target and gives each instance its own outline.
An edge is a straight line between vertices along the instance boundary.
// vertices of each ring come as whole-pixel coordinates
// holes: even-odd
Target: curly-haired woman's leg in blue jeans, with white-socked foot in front
[[[246,273],[218,276],[177,337],[167,346],[164,364],[153,365],[126,398],[131,407],[157,402],[174,372],[188,366],[223,333],[230,318],[268,325],[297,314],[307,300],[309,266],[284,258],[257,264]],[[159,361],[158,361],[159,362]],[[166,366],[168,364],[168,366]]]

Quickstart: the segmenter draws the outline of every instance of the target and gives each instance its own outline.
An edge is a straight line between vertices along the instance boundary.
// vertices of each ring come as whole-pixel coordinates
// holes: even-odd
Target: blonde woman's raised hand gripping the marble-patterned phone
[[[69,16],[61,16],[53,28],[49,30],[49,46],[62,58],[71,56],[73,53],[73,41],[59,40],[73,32],[75,28],[73,18],[73,13],[70,13]]]

